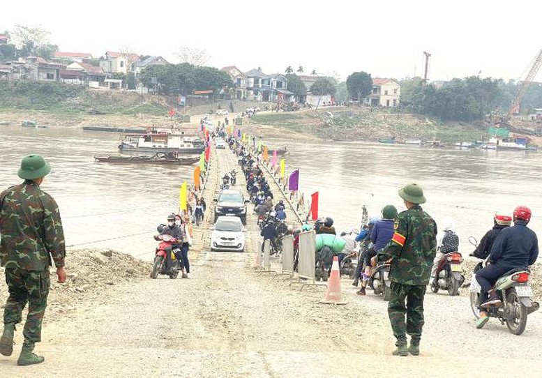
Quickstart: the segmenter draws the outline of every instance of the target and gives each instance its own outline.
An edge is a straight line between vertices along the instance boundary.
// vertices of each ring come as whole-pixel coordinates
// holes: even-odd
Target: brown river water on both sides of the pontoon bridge
[[[192,181],[194,166],[94,162],[95,155],[117,154],[118,144],[116,133],[0,126],[0,188],[20,183],[21,158],[38,153],[52,165],[42,188],[59,204],[68,246],[151,259],[156,225],[178,208],[179,186]],[[404,209],[397,192],[410,182],[423,186],[428,199],[423,207],[437,223],[454,220],[462,252],[471,252],[467,237],[480,239],[497,210],[511,215],[525,204],[534,214],[530,226],[542,229],[540,153],[357,142],[269,144],[288,147],[286,172],[300,169],[300,192],[309,199],[319,191],[319,215],[331,216],[338,232],[359,227],[363,204],[370,216],[386,204]]]

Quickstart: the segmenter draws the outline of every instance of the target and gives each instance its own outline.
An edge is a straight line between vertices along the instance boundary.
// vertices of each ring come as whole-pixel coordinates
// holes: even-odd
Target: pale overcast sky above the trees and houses
[[[321,4],[328,5],[321,5]],[[181,46],[206,50],[209,66],[284,73],[303,66],[341,80],[478,75],[518,80],[542,48],[541,1],[2,1],[0,31],[50,32],[64,52],[125,50],[179,63]],[[536,80],[542,81],[539,73]]]

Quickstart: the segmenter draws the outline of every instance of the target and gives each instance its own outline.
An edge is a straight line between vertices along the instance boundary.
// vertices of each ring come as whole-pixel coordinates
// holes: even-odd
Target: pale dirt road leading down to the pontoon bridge
[[[235,161],[227,150],[214,156],[219,169],[210,180]],[[248,228],[248,252],[203,251],[190,280],[121,283],[103,289],[100,301],[46,315],[41,365],[15,366],[18,331],[0,376],[472,377],[485,367],[502,377],[540,375],[540,312],[513,336],[495,319],[476,330],[465,290],[427,294],[421,356],[394,357],[381,298],[356,296],[343,280],[347,305],[324,305],[323,287],[299,292],[290,280],[259,275],[253,216]]]

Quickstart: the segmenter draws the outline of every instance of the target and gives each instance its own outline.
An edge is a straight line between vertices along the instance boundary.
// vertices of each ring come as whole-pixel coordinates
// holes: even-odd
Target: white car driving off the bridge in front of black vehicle
[[[220,216],[213,226],[211,234],[211,251],[232,250],[243,252],[245,250],[245,228],[241,218]]]

